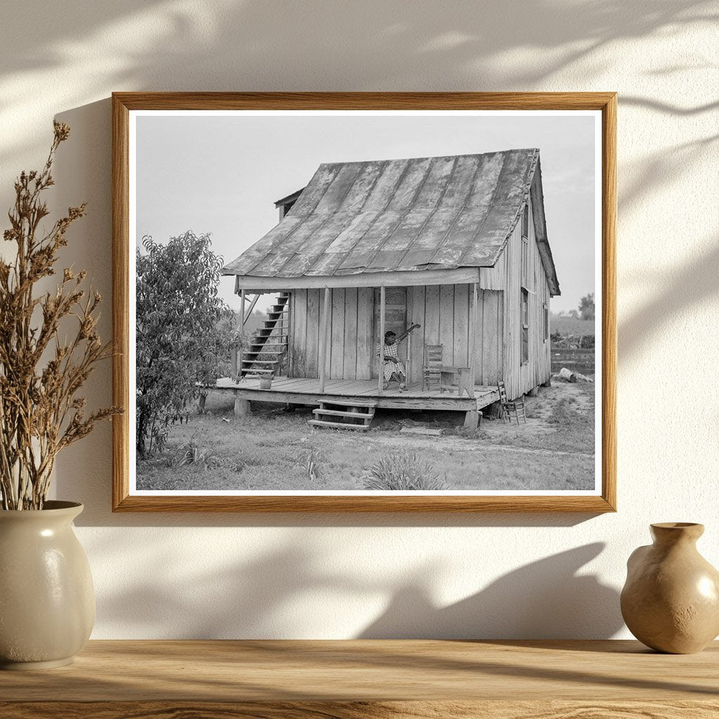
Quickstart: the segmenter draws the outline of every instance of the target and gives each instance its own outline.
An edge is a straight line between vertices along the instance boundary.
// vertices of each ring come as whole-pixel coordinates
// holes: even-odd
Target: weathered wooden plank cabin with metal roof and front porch
[[[500,380],[510,398],[549,381],[559,283],[539,150],[324,164],[275,204],[279,223],[223,270],[243,322],[257,296],[278,296],[238,359],[239,395],[259,398],[265,373],[265,401],[469,410],[495,401]],[[413,323],[408,391],[383,390],[380,338]],[[436,345],[442,365],[470,368],[475,397],[423,385]]]

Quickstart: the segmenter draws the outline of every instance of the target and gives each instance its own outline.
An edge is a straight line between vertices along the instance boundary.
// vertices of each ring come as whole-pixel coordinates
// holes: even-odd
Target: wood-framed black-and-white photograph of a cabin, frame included
[[[615,510],[615,111],[114,93],[114,510]]]

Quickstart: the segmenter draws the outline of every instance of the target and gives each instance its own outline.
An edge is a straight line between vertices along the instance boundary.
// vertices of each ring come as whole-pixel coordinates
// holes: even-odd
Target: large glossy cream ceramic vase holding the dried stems
[[[72,524],[82,510],[0,510],[0,668],[63,667],[88,640],[95,594]]]

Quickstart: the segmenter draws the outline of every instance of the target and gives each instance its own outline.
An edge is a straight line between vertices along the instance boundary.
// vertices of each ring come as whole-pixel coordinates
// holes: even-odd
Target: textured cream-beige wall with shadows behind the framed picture
[[[0,207],[14,175],[42,161],[52,116],[69,122],[54,206],[89,201],[66,257],[107,298],[113,90],[620,93],[619,512],[118,516],[106,425],[58,462],[58,494],[86,503],[78,536],[96,637],[628,636],[617,592],[650,521],[705,522],[701,549],[719,565],[713,10],[694,0],[4,3]],[[109,336],[109,306],[101,329]],[[109,402],[109,367],[90,397]]]

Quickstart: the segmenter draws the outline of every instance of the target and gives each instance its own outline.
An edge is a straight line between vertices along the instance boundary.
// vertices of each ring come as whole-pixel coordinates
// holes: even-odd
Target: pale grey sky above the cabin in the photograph
[[[278,222],[275,200],[306,186],[322,162],[471,155],[539,147],[547,236],[562,295],[595,290],[595,117],[388,114],[137,116],[136,240],[211,233],[230,262]],[[220,294],[234,309],[234,278]],[[271,298],[267,297],[267,303]],[[258,307],[265,303],[258,304]]]

